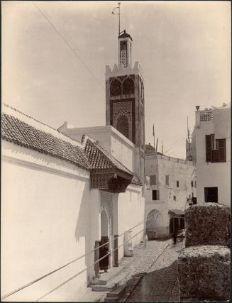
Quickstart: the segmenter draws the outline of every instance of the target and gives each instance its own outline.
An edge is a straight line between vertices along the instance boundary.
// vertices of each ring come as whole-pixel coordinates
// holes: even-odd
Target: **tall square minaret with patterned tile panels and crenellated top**
[[[132,66],[132,38],[118,35],[118,65],[106,65],[106,125],[114,126],[135,145],[134,172],[144,183],[145,125],[143,76]]]

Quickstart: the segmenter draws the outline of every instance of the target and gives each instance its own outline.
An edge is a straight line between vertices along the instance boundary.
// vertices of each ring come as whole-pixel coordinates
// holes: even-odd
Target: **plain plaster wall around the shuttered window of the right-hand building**
[[[231,138],[226,138],[226,162],[206,162],[205,135],[214,133],[212,121],[194,129],[197,150],[197,203],[204,203],[204,187],[218,187],[219,203],[231,206]]]

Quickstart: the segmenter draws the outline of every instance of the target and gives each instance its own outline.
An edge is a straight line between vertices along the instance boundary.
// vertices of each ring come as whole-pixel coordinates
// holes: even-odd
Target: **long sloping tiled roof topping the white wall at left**
[[[1,114],[1,137],[3,139],[26,148],[37,150],[40,153],[67,160],[80,167],[89,168],[89,162],[84,154],[84,149],[79,147],[77,142],[73,141],[72,144],[72,140],[68,137],[67,141],[62,140],[59,138],[61,134],[58,131],[56,131],[57,136],[53,136],[49,131],[41,131],[38,121],[36,121],[36,126],[38,127],[35,128],[16,116],[5,114],[4,112]],[[41,125],[44,128],[44,124],[42,123]],[[53,133],[54,131],[53,129]]]

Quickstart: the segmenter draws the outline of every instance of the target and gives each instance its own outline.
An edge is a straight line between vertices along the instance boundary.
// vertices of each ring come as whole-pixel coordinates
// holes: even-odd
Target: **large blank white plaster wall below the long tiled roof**
[[[89,172],[4,141],[1,179],[1,295],[92,249]],[[6,301],[72,301],[87,285],[82,258]],[[67,281],[69,280],[70,281]],[[64,283],[64,285],[62,285]],[[62,286],[60,286],[62,285]]]

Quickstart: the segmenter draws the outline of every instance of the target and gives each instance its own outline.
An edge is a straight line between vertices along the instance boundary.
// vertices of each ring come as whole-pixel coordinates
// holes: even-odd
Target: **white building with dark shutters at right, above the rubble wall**
[[[197,203],[231,205],[231,105],[195,111],[192,158],[197,165]]]

